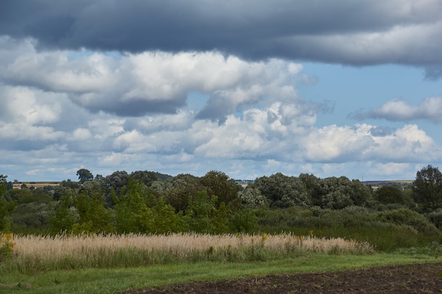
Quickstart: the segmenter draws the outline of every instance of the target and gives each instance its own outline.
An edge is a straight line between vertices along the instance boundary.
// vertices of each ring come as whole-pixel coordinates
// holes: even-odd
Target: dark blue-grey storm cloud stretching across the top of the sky
[[[437,37],[442,36],[431,28],[441,20],[437,0],[7,0],[1,6],[0,35],[35,37],[40,47],[218,50],[246,59],[432,64],[427,76],[441,74]],[[419,25],[429,30],[422,39],[401,31]]]

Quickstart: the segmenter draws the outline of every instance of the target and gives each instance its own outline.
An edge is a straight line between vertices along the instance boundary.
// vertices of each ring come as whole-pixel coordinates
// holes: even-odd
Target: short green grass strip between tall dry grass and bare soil
[[[4,274],[0,283],[15,284],[1,288],[0,293],[115,293],[119,291],[165,286],[191,281],[215,281],[242,276],[292,274],[297,272],[339,271],[387,264],[441,262],[441,258],[428,255],[374,254],[323,255],[278,259],[271,262],[220,263],[196,262],[153,265],[127,269],[85,269],[73,271],[47,271],[40,274]],[[30,284],[30,288],[19,286]]]

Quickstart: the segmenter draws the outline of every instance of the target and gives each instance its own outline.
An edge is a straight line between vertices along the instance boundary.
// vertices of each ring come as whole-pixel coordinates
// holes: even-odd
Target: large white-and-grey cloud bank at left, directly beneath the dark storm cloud
[[[0,76],[11,85],[65,94],[92,113],[118,116],[174,114],[186,106],[190,92],[210,95],[197,118],[225,121],[241,106],[264,100],[302,103],[294,88],[302,66],[270,59],[248,62],[216,52],[145,52],[119,58],[83,51],[40,52],[31,39],[2,38],[6,49]]]

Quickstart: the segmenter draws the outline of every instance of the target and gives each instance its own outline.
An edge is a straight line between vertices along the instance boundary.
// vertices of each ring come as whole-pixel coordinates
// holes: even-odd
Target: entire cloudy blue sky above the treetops
[[[0,174],[413,180],[441,51],[440,0],[3,0]]]

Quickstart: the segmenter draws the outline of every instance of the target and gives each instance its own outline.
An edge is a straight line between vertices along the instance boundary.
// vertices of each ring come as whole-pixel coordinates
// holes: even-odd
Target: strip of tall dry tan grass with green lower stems
[[[178,262],[249,262],[297,257],[309,252],[368,254],[373,247],[342,238],[291,234],[209,235],[14,235],[16,246],[1,271],[141,267]]]

